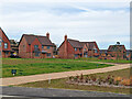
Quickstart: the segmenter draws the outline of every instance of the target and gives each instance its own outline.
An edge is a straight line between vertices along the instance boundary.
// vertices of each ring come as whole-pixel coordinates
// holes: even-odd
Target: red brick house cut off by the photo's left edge
[[[0,28],[0,57],[10,57],[11,45],[8,36]]]

